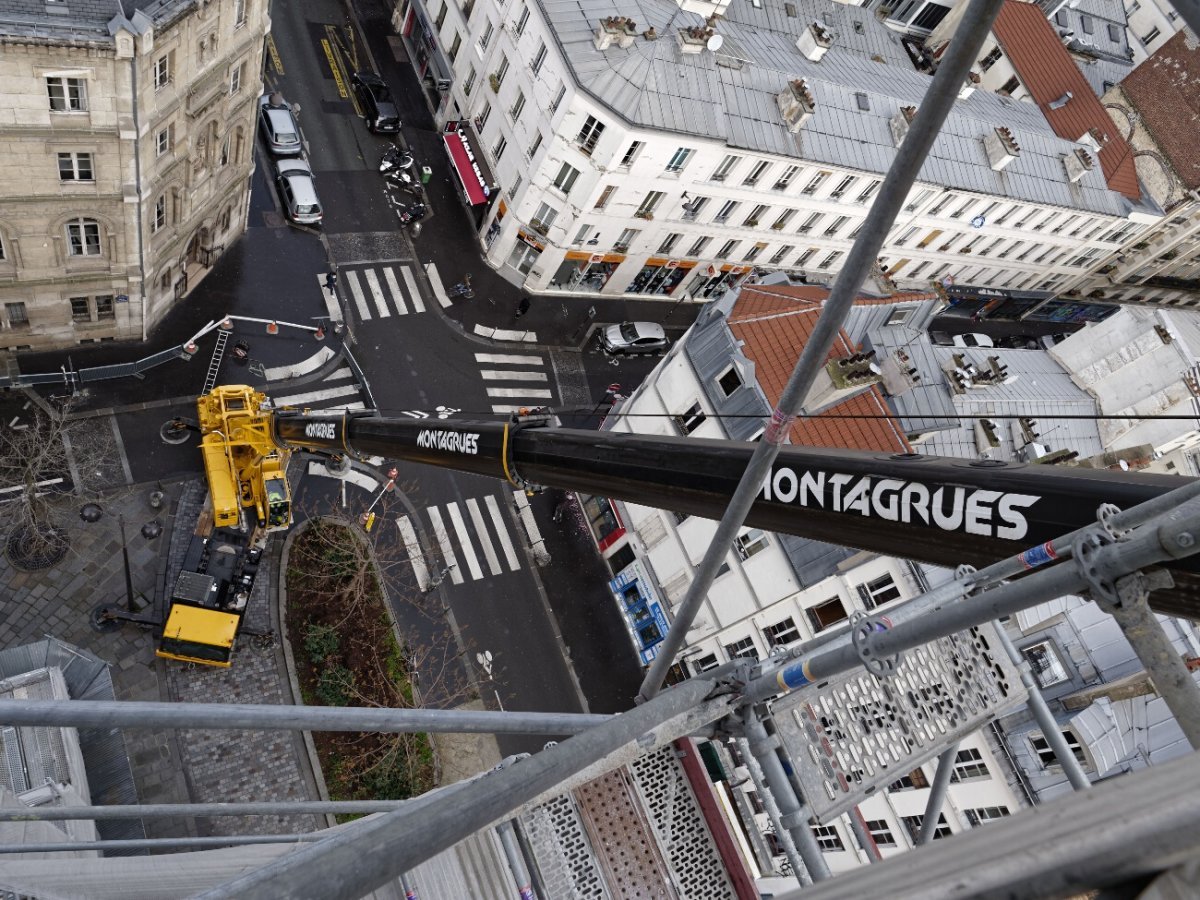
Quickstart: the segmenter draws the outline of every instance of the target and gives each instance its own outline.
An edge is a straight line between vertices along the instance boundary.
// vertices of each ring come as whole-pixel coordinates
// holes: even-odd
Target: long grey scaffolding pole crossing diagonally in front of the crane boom
[[[721,521],[713,533],[704,557],[696,569],[695,577],[688,587],[679,608],[676,610],[671,628],[659,646],[654,664],[646,673],[646,679],[638,690],[640,701],[646,701],[659,692],[667,671],[674,662],[679,648],[686,640],[691,623],[700,612],[701,605],[708,598],[716,570],[725,562],[733,539],[745,522],[755,498],[762,488],[763,480],[770,473],[772,463],[779,456],[779,450],[787,442],[792,422],[804,407],[817,372],[829,358],[829,350],[863,287],[871,268],[878,260],[880,248],[887,238],[888,229],[900,212],[908,192],[917,180],[917,173],[929,154],[934,140],[941,131],[946,116],[954,107],[959,91],[966,82],[971,66],[978,58],[979,49],[991,30],[991,23],[1000,12],[1003,0],[971,0],[970,6],[954,32],[949,49],[942,56],[937,72],[930,82],[929,90],[920,101],[917,115],[908,127],[904,143],[896,150],[888,174],[880,185],[880,191],[871,204],[870,212],[863,223],[863,229],[854,240],[842,266],[834,281],[829,298],[824,302],[812,334],[787,384],[780,394],[779,402],[772,413],[762,440],[755,445],[755,451],[746,463],[745,472],[738,481],[737,490],[730,499]]]

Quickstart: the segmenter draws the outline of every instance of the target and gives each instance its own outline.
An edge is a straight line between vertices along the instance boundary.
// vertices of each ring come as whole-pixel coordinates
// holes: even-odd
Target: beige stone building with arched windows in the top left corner
[[[266,0],[17,0],[0,352],[144,340],[246,227]]]

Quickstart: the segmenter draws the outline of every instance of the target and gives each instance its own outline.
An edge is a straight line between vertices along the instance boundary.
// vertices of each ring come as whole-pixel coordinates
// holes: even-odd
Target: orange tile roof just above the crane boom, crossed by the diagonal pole
[[[784,385],[796,367],[800,350],[812,334],[824,299],[826,288],[763,287],[743,288],[728,323],[733,336],[743,342],[742,352],[754,361],[758,386],[772,406],[779,402]],[[860,296],[856,305],[894,304],[926,300],[931,294],[896,294],[892,298]],[[834,342],[832,356],[853,353],[846,332]],[[882,419],[846,419],[847,415],[883,415]],[[845,448],[850,450],[912,450],[904,432],[892,419],[878,388],[857,394],[811,419],[799,419],[792,426],[792,443],[806,446]]]

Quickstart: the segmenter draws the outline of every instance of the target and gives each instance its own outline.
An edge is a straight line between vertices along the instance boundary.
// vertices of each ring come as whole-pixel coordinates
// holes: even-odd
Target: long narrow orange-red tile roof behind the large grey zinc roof
[[[1079,140],[1088,128],[1108,134],[1109,142],[1099,154],[1104,178],[1110,188],[1136,200],[1141,190],[1133,152],[1042,8],[1036,4],[1008,0],[1000,8],[992,34],[1055,134],[1067,140]],[[1067,91],[1070,91],[1072,98],[1066,106],[1051,109],[1050,103]]]

